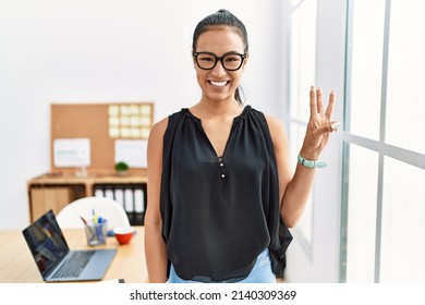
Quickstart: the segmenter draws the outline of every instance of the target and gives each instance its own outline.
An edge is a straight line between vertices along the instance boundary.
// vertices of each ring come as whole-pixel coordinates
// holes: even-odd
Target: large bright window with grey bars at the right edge
[[[341,281],[425,280],[420,0],[349,0]]]

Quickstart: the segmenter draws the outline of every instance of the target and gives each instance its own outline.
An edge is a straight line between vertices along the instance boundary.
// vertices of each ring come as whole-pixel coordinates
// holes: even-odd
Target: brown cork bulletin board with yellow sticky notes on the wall
[[[116,142],[146,142],[154,123],[153,102],[52,103],[51,172],[74,172],[75,167],[58,162],[60,142],[89,142],[88,173],[112,172],[116,164]],[[146,168],[131,168],[145,171]]]

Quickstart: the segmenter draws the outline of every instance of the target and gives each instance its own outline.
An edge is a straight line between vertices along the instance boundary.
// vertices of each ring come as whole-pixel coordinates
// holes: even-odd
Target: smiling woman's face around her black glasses
[[[216,57],[222,57],[229,52],[244,53],[242,37],[229,27],[214,28],[199,35],[195,52],[210,52]],[[203,70],[196,64],[196,78],[203,90],[203,99],[212,101],[232,100],[234,91],[239,87],[243,71],[247,61],[244,59],[242,66],[236,71],[227,71],[218,60],[212,70]],[[201,56],[198,60],[202,60]]]

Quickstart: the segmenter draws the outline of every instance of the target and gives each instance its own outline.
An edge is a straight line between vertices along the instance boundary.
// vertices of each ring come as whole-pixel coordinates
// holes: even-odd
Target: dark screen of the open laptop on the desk
[[[23,234],[42,277],[70,251],[52,210],[27,227]]]

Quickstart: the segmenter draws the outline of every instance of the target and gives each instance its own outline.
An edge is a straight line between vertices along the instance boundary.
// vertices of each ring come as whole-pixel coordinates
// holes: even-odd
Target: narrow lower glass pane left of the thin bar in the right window
[[[374,282],[378,154],[349,149],[347,282]]]

